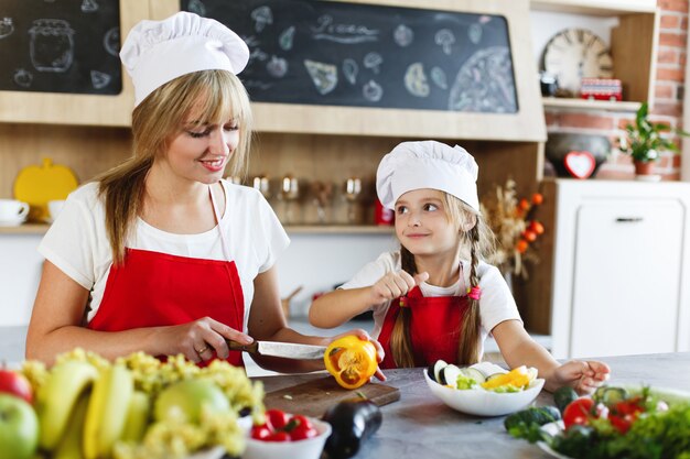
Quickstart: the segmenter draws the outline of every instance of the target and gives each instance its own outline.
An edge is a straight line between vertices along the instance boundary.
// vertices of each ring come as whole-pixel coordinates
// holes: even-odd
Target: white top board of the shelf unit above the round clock
[[[532,10],[564,13],[616,15],[622,13],[654,13],[656,0],[531,0]]]

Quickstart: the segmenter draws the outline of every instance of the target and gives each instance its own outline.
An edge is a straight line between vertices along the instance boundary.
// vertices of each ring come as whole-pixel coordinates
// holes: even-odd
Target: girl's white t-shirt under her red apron
[[[454,285],[449,287],[439,287],[422,282],[419,285],[424,296],[462,296],[467,292],[470,285],[471,265],[466,260],[461,260],[462,276]],[[402,269],[400,251],[385,252],[379,255],[376,261],[367,263],[355,276],[341,285],[339,288],[362,288],[374,285],[379,278],[387,273],[400,271]],[[482,288],[482,297],[479,299],[479,319],[482,321],[482,330],[479,334],[479,354],[484,353],[484,340],[488,334],[498,324],[505,320],[520,320],[520,313],[515,304],[515,298],[510,293],[510,288],[504,280],[500,271],[492,264],[479,261],[477,266],[477,276],[479,277],[479,288]],[[374,312],[374,330],[371,336],[378,338],[384,326],[384,319],[388,313],[391,302],[385,302],[380,305],[371,307]]]

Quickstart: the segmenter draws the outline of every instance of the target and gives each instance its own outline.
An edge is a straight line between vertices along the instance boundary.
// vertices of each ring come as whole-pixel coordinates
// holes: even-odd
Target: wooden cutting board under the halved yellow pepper
[[[378,406],[400,400],[398,387],[370,382],[354,391],[348,391],[337,385],[334,378],[325,376],[269,392],[263,403],[267,408],[321,417],[328,407],[347,398],[357,398],[358,393],[364,394]]]

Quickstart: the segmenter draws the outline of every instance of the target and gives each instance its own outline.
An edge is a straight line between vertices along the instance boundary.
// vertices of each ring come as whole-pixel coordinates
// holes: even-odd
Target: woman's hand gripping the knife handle
[[[183,353],[188,360],[198,363],[214,358],[227,359],[229,350],[226,339],[249,345],[254,339],[211,317],[162,329],[162,337],[157,337],[162,349],[160,354]]]

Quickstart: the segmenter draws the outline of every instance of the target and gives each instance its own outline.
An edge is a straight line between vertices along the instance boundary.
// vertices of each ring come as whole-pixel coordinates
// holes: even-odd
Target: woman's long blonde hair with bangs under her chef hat
[[[155,157],[165,154],[191,114],[198,127],[229,120],[238,123],[240,138],[230,155],[229,172],[246,174],[251,108],[247,90],[235,75],[226,70],[195,72],[155,89],[132,112],[133,155],[96,178],[100,182],[99,195],[105,198],[114,264],[125,262],[125,244],[141,211],[145,178]]]

